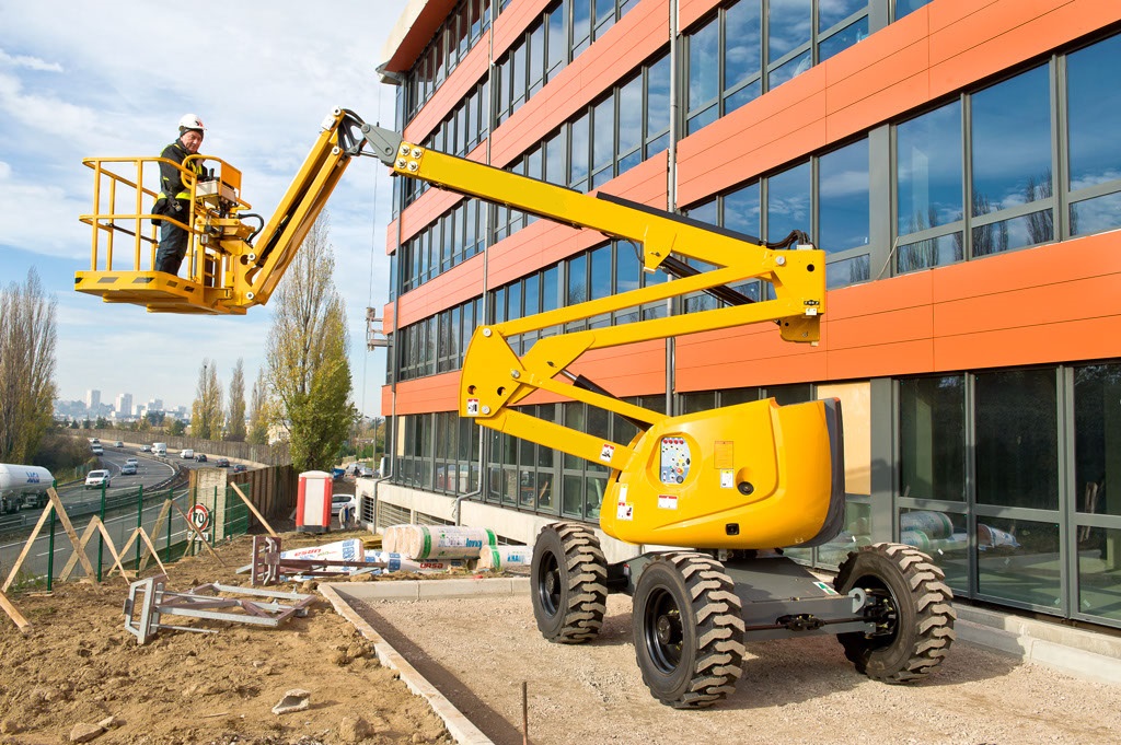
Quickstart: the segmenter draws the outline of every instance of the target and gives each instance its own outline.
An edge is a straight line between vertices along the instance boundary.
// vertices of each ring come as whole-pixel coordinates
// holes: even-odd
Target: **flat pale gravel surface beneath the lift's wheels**
[[[522,742],[522,681],[535,745],[1106,743],[1121,732],[1121,687],[961,642],[908,687],[856,673],[832,636],[750,643],[734,695],[675,710],[642,683],[624,595],[577,646],[540,636],[528,595],[353,605],[499,745]]]

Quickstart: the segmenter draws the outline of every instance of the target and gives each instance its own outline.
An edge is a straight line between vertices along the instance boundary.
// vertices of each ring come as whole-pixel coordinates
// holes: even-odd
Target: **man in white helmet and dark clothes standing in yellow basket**
[[[179,166],[187,156],[198,152],[203,143],[203,133],[206,128],[203,120],[195,114],[184,114],[179,119],[179,137],[169,146],[164,148],[160,158],[166,158]],[[202,161],[192,160],[187,168],[195,173],[197,178],[202,177]],[[161,193],[152,214],[163,215],[170,220],[160,221],[159,250],[156,251],[156,271],[166,271],[169,274],[179,273],[179,264],[187,253],[188,232],[184,227],[176,225],[174,221],[189,224],[191,221],[191,189],[183,184],[183,174],[170,162],[159,164],[159,183]]]

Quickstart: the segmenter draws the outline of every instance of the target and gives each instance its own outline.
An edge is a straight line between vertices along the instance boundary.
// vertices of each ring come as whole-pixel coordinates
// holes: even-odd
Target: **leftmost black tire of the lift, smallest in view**
[[[550,642],[582,644],[595,639],[608,602],[608,562],[587,525],[555,522],[534,543],[530,588],[537,628]]]

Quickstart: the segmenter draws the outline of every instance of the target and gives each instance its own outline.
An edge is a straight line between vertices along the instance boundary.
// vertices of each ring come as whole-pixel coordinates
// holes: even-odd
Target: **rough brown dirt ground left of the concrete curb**
[[[281,536],[282,548],[326,539]],[[251,538],[169,565],[167,589],[249,585]],[[145,576],[149,576],[150,571]],[[305,592],[295,585],[278,589]],[[306,588],[311,590],[311,588]],[[128,583],[55,585],[15,594],[30,622],[21,634],[0,613],[0,744],[68,743],[82,725],[112,717],[98,745],[197,743],[451,743],[444,723],[322,597],[306,617],[277,628],[165,616],[216,634],[160,631],[145,645],[124,630]],[[290,689],[311,692],[305,711],[276,715]]]

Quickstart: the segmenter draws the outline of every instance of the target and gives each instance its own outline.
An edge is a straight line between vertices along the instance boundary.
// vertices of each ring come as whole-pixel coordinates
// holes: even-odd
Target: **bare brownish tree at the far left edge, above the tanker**
[[[0,290],[0,460],[27,463],[50,426],[56,306],[34,269]]]

